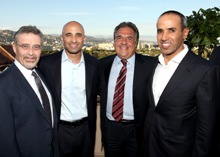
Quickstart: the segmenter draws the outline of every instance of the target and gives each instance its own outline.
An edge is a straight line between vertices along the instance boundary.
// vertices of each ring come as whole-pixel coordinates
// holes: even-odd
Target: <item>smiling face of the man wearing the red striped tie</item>
[[[114,48],[121,59],[134,55],[137,47],[136,34],[130,27],[121,27],[115,34]]]

